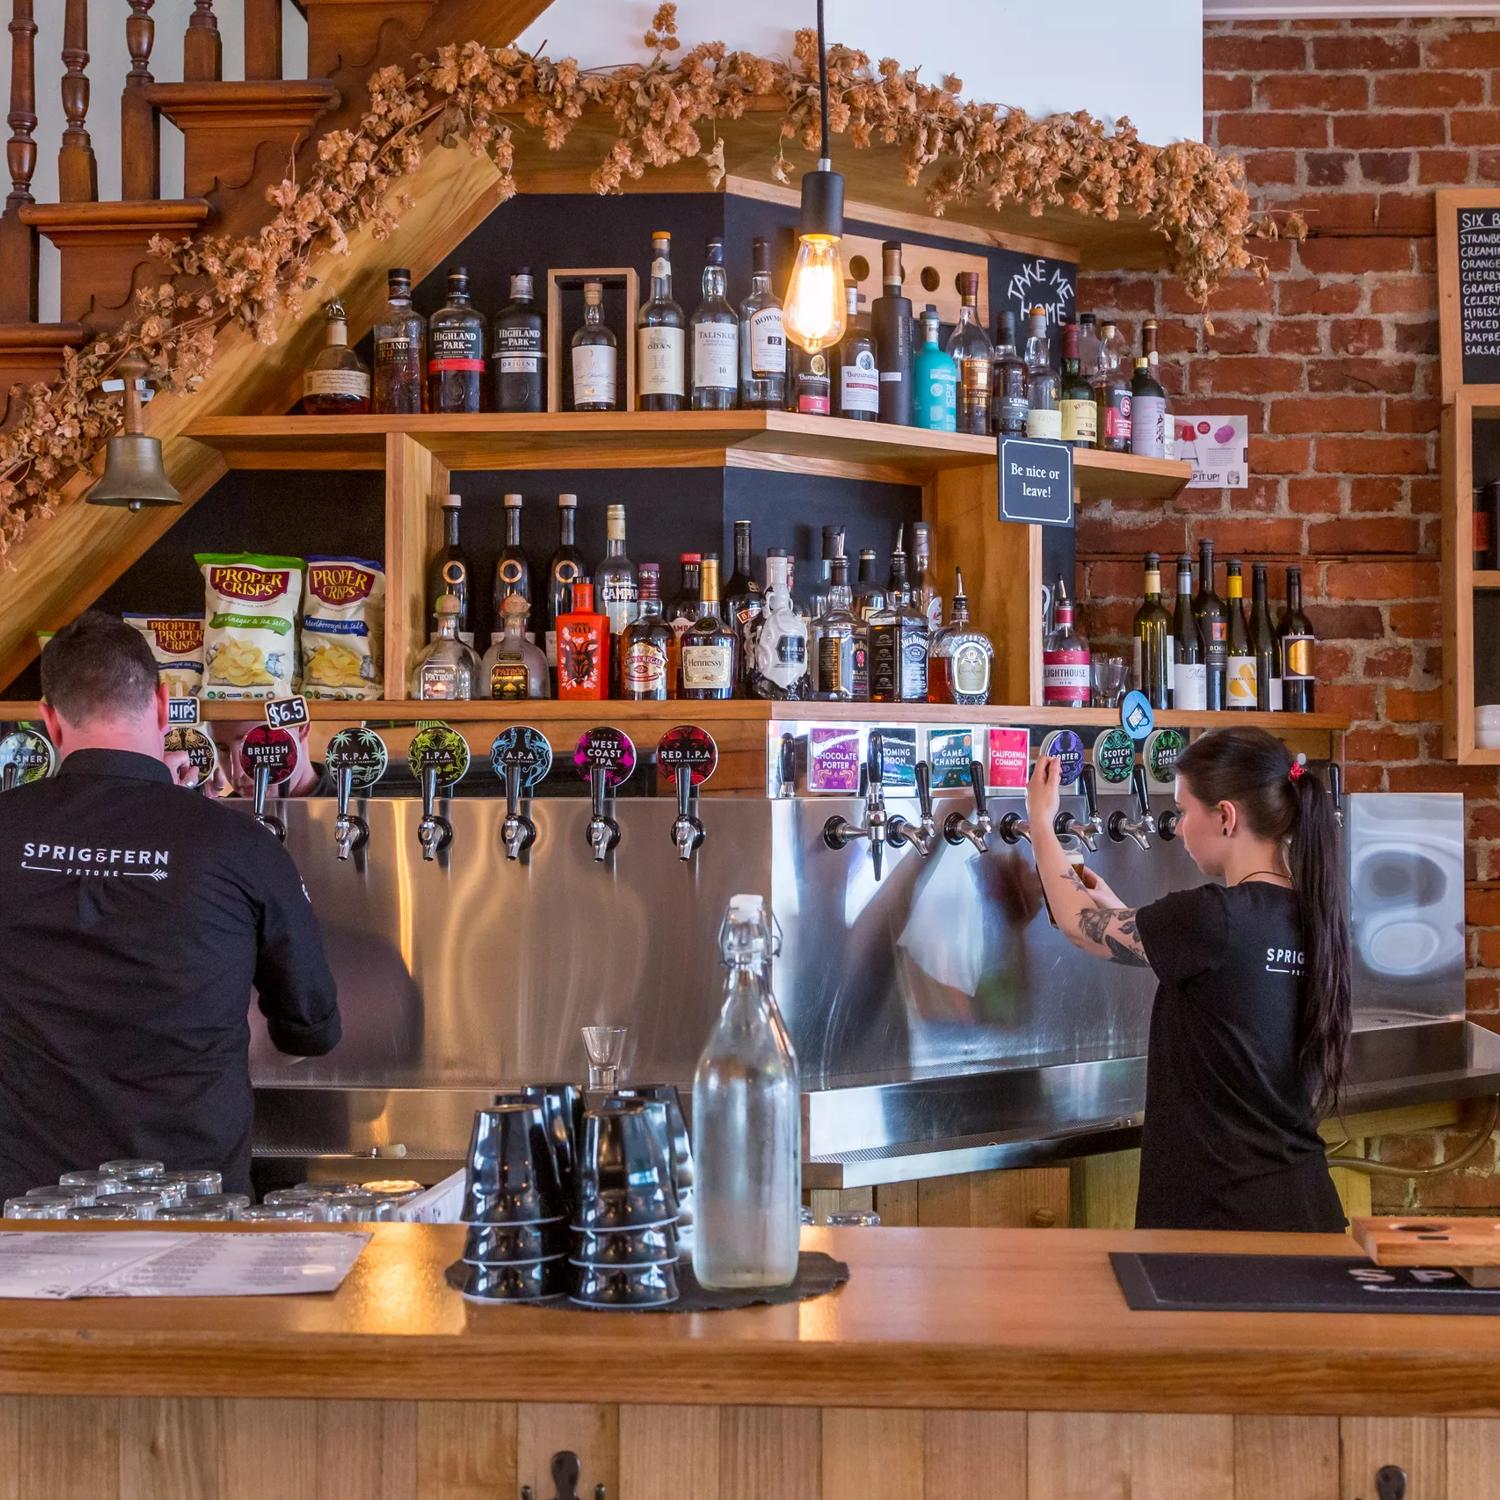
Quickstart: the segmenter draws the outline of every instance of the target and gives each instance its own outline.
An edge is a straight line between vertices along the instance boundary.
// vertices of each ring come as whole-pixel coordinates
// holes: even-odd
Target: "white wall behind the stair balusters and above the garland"
[[[921,66],[930,78],[954,72],[972,99],[1018,105],[1032,114],[1086,108],[1106,120],[1128,114],[1142,136],[1166,144],[1197,138],[1203,129],[1203,0],[1149,0],[1122,8],[1120,0],[1066,0],[1054,9],[1066,26],[1038,33],[1034,18],[1046,15],[1038,0],[938,0],[926,8],[912,0],[826,0],[831,40],[861,46],[872,57],[896,57]],[[90,9],[92,98],[88,130],[99,160],[99,196],[120,194],[120,90],[130,58],[124,45],[124,0],[94,0]],[[522,36],[525,45],[554,56],[572,54],[586,66],[624,63],[644,56],[640,34],[656,0],[554,0]],[[32,183],[38,201],[57,196],[57,142],[63,132],[58,82],[63,66],[63,0],[39,0],[36,76],[36,142],[39,159]],[[243,76],[242,9],[238,0],[218,0],[224,38],[224,76]],[[291,0],[284,0],[288,78],[306,70],[308,27]],[[182,78],[183,32],[192,0],[156,0],[156,45],[152,72]],[[0,0],[0,21],[10,6]],[[680,0],[678,27],[684,44],[723,40],[770,56],[788,56],[800,26],[812,26],[813,0]],[[10,98],[9,36],[0,30],[0,123]],[[9,130],[6,130],[9,134]],[[3,180],[9,190],[9,177]],[[182,136],[162,124],[162,192],[182,192]],[[44,320],[57,316],[57,262],[42,244]]]

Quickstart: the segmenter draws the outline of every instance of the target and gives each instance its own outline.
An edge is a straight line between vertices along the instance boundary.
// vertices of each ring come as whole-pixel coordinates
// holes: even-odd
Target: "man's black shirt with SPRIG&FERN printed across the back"
[[[0,795],[0,1196],[114,1156],[248,1191],[252,986],[280,1052],[338,1042],[302,876],[254,819],[126,750]]]

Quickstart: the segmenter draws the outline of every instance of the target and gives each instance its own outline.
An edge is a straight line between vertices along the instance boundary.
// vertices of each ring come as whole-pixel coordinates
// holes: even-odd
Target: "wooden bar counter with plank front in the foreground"
[[[562,1449],[610,1500],[1500,1497],[1500,1320],[1131,1312],[1107,1260],[1341,1236],[808,1232],[842,1292],[699,1316],[470,1304],[460,1244],[380,1226],[333,1296],[0,1302],[0,1497],[552,1500]]]

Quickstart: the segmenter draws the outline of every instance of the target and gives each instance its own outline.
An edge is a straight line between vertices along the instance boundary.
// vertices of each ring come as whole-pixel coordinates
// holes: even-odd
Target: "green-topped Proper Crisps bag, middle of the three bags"
[[[200,552],[202,696],[286,698],[297,676],[302,558]]]

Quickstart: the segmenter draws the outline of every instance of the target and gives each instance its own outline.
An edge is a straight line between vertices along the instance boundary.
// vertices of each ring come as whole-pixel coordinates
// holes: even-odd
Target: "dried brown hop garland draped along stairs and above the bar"
[[[694,158],[718,186],[724,146],[714,128],[748,110],[782,111],[772,164],[782,182],[790,180],[786,144],[816,147],[813,32],[798,32],[790,62],[723,42],[684,50],[676,6],[663,4],[645,45],[646,62],[614,69],[478,42],[417,57],[411,70],[382,68],[369,80],[358,124],[327,132],[300,182],[288,177],[268,189],[274,213],[256,234],[153,242],[172,279],[138,292],[112,333],[69,350],[56,381],[15,392],[16,420],[0,434],[0,558],[32,518],[52,512],[68,476],[118,430],[120,399],[100,382],[126,354],[146,358],[160,390],[192,392],[225,326],[273,344],[315,285],[314,255],[346,254],[358,231],[382,238],[396,230],[411,202],[398,184],[416,171],[429,140],[488,156],[501,198],[516,192],[516,130],[536,132],[556,150],[585,112],[614,122],[614,140],[591,176],[600,194],[618,192],[646,168]],[[1196,141],[1148,146],[1124,118],[1113,129],[1083,111],[1034,120],[1022,110],[963,99],[957,78],[928,84],[916,69],[891,58],[872,63],[850,46],[830,48],[828,84],[832,130],[855,150],[896,147],[906,183],[918,188],[926,178],[932,213],[958,202],[1024,204],[1034,214],[1068,207],[1102,219],[1126,212],[1160,231],[1172,270],[1200,302],[1233,272],[1252,267],[1264,276],[1248,240],[1304,232],[1296,216],[1278,225],[1252,214],[1238,159]]]

